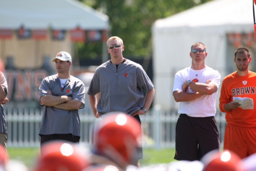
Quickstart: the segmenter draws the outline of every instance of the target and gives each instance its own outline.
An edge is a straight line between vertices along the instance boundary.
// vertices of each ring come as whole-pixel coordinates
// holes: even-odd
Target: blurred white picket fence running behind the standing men
[[[39,147],[38,135],[42,109],[7,108],[5,109],[8,124],[8,147]],[[177,111],[164,111],[155,107],[141,116],[143,147],[173,148],[175,146],[175,126],[178,118]],[[80,110],[81,140],[90,143],[90,127],[96,120],[89,111]],[[226,127],[225,113],[216,114],[221,144],[223,144]]]

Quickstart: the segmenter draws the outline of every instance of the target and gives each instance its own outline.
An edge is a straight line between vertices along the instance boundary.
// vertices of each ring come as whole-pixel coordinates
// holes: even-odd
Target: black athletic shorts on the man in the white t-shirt
[[[180,114],[176,124],[176,160],[200,160],[205,154],[220,149],[219,132],[214,116],[190,117]]]

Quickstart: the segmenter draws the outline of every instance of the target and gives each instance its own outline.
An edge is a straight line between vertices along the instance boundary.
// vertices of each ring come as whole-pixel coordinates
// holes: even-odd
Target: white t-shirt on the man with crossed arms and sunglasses
[[[178,71],[174,77],[174,85],[172,91],[183,91],[182,85],[187,80],[198,83],[205,83],[211,79],[210,84],[215,84],[218,88],[220,85],[221,74],[217,70],[205,67],[202,70],[193,70],[187,67]],[[187,92],[195,92],[194,89],[188,87]],[[188,102],[180,102],[179,113],[187,114],[191,117],[208,117],[216,114],[216,96],[217,91],[212,95],[203,95],[202,97]]]

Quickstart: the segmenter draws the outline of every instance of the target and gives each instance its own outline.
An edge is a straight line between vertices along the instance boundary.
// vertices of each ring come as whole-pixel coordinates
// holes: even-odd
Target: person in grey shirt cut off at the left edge
[[[0,59],[0,145],[6,149],[7,145],[7,122],[5,119],[5,113],[3,109],[3,104],[9,102],[6,97],[8,94],[7,81],[4,76],[4,64]]]

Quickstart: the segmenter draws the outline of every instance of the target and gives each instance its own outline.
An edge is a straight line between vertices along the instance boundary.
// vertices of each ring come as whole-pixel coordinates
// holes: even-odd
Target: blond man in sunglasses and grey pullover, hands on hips
[[[150,108],[154,85],[141,65],[123,57],[122,39],[111,37],[106,45],[111,59],[96,69],[87,91],[91,110],[96,118],[120,111],[141,123],[139,115]],[[139,158],[142,158],[142,149]]]

